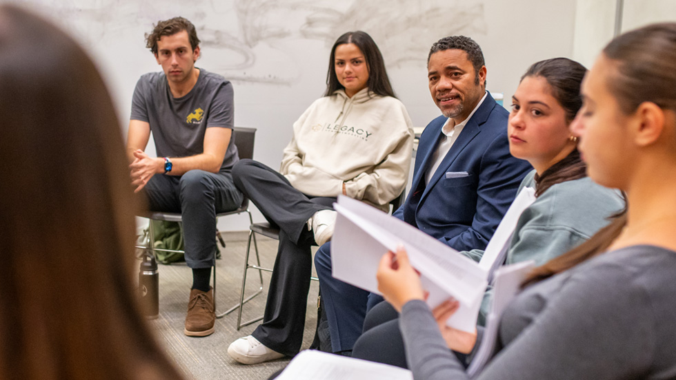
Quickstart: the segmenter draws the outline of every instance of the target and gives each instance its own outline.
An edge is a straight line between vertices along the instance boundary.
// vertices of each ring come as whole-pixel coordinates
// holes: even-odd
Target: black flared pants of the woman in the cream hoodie
[[[272,350],[296,355],[303,343],[312,273],[311,247],[315,244],[307,221],[317,211],[332,209],[336,198],[307,196],[280,173],[253,160],[239,160],[232,168],[232,179],[268,222],[280,230],[263,324],[252,335]]]

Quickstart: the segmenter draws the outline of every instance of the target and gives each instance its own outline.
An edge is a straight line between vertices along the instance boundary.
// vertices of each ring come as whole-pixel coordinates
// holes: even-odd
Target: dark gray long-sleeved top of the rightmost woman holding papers
[[[417,380],[468,379],[421,301],[399,319]],[[676,379],[676,253],[632,246],[524,289],[477,379]]]

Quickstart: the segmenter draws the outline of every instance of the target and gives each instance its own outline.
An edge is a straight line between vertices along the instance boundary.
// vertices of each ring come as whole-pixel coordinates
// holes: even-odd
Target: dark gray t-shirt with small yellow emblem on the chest
[[[163,72],[141,76],[132,98],[131,120],[150,124],[158,157],[188,157],[204,151],[204,132],[211,127],[233,127],[232,84],[223,76],[199,70],[195,87],[175,98]],[[239,160],[235,136],[223,157],[221,171]]]

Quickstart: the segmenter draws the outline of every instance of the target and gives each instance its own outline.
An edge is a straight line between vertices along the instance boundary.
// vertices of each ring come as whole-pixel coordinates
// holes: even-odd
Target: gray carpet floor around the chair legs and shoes
[[[217,312],[223,312],[239,302],[239,291],[246,252],[247,232],[223,233],[226,249],[217,260]],[[272,268],[277,254],[277,240],[258,236],[261,266]],[[315,248],[316,250],[316,248]],[[313,250],[313,253],[315,251]],[[253,263],[255,258],[250,258]],[[260,285],[258,272],[250,270],[246,295],[254,293]],[[243,307],[242,320],[263,315],[268,293],[269,273],[264,273],[264,292]],[[151,321],[157,329],[158,339],[166,352],[183,370],[188,379],[267,379],[270,374],[284,368],[289,358],[278,359],[254,366],[244,366],[228,356],[228,346],[239,337],[249,335],[259,324],[237,331],[237,310],[216,321],[215,332],[208,337],[183,335],[183,321],[188,307],[192,273],[184,263],[159,266],[159,317]],[[317,292],[319,285],[313,281],[308,297],[303,349],[308,348],[317,326]]]

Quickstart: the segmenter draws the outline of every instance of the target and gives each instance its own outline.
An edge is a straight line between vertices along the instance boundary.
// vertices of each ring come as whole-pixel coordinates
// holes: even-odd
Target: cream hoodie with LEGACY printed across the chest
[[[406,187],[413,130],[404,105],[362,89],[343,89],[312,103],[293,125],[282,173],[309,196],[343,192],[384,211]]]

